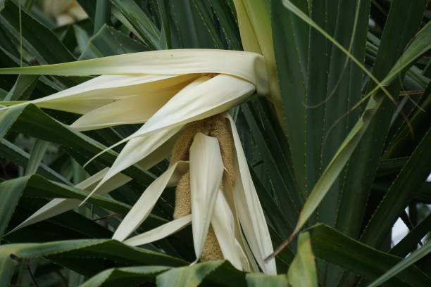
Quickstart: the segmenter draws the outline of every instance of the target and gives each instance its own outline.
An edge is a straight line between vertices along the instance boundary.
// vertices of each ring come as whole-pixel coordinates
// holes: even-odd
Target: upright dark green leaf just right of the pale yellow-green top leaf
[[[308,13],[307,1],[295,4]],[[306,196],[305,145],[306,67],[308,65],[308,25],[290,13],[282,1],[271,1],[271,20],[277,72],[285,116],[285,129],[292,151],[293,170],[301,196]],[[244,43],[243,43],[244,44]]]

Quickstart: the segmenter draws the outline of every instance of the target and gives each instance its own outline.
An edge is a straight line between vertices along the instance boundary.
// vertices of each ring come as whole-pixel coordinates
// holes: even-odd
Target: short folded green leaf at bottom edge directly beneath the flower
[[[245,272],[241,272],[227,260],[210,261],[188,267],[170,269],[157,276],[157,286],[245,286]]]

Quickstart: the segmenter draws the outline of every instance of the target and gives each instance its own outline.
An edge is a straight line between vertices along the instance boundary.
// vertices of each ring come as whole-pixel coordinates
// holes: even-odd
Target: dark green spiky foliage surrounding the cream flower
[[[44,15],[38,2],[0,1],[1,68],[154,49],[243,49],[235,7],[228,0],[80,0],[89,18],[61,26]],[[194,260],[189,229],[144,248],[101,239],[111,238],[122,215],[167,161],[149,172],[130,167],[126,172],[135,180],[111,196],[94,196],[82,208],[7,234],[50,198],[85,198],[87,192],[72,186],[111,165],[118,149],[82,165],[137,129],[129,125],[78,133],[61,124],[73,122],[76,115],[27,106],[0,119],[0,286],[9,281],[12,286],[127,286],[146,281],[159,286],[283,286],[288,280],[294,286],[311,286],[304,280],[316,276],[315,257],[320,286],[367,285],[398,262],[406,269],[394,274],[387,286],[430,286],[426,236],[431,185],[425,182],[431,172],[430,4],[292,1],[380,81],[406,63],[403,59],[411,59],[385,82],[396,104],[377,91],[373,98],[378,106],[370,108],[363,101],[351,110],[375,83],[304,17],[294,15],[288,2],[248,4],[250,15],[258,15],[256,34],[259,21],[270,19],[282,103],[274,107],[258,97],[230,111],[273,245],[292,234],[301,210],[313,209],[304,203],[318,205],[306,231],[277,255],[279,276],[246,275],[228,262],[174,268]],[[264,9],[253,10],[262,3]],[[414,42],[418,32],[421,36]],[[412,43],[425,48],[415,50]],[[0,98],[39,98],[86,79],[3,75]],[[282,110],[282,117],[275,108]],[[366,124],[360,129],[362,138],[356,146],[353,141],[343,145],[358,121]],[[325,176],[340,146],[349,161],[345,167],[335,162],[332,170],[340,171]],[[319,179],[335,181],[326,195],[315,187]],[[311,194],[325,197],[320,202]],[[173,200],[173,192],[163,193],[138,231],[170,220]],[[410,231],[392,245],[391,229],[399,217]],[[417,258],[414,264],[406,257],[410,253],[411,260]]]

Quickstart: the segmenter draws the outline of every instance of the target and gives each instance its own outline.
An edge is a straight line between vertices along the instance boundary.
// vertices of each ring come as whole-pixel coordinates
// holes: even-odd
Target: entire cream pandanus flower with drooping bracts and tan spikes
[[[101,75],[35,104],[78,113],[70,127],[85,131],[143,123],[110,168],[78,184],[108,193],[130,178],[123,170],[148,169],[168,158],[170,166],[142,193],[113,238],[130,245],[159,240],[192,224],[196,260],[230,260],[238,269],[275,274],[268,227],[246,163],[235,122],[226,110],[268,93],[263,57],[221,50],[165,50],[73,63],[6,68],[1,74]],[[166,186],[177,186],[172,222],[128,238],[149,216]],[[92,195],[89,194],[89,196]],[[18,228],[79,205],[56,198]],[[256,264],[257,262],[257,264]]]

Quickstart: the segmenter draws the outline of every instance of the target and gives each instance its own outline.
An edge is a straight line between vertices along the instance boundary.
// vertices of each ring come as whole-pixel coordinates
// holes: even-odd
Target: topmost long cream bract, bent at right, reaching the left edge
[[[259,94],[268,94],[263,56],[258,53],[211,49],[179,49],[129,53],[70,63],[0,69],[0,74],[27,75],[182,75],[227,74],[256,85]]]

